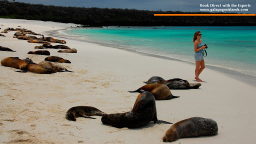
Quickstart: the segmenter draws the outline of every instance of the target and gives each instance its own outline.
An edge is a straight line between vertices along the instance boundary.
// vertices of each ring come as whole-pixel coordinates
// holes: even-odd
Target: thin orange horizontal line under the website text
[[[154,16],[255,16],[256,14],[154,14]]]

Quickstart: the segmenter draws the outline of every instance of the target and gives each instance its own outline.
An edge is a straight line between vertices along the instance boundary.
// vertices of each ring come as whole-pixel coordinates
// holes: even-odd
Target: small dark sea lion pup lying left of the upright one
[[[70,109],[67,110],[66,112],[66,119],[67,120],[72,120],[75,121],[75,117],[85,117],[85,118],[92,118],[96,119],[93,117],[89,117],[91,115],[105,115],[106,113],[100,111],[99,109],[92,107],[92,106],[75,106],[71,107]]]

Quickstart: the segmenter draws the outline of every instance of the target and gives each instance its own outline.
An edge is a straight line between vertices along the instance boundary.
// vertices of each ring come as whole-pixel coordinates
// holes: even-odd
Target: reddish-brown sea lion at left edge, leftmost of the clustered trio
[[[18,57],[6,57],[1,60],[3,66],[9,66],[17,69],[26,69],[27,63]]]

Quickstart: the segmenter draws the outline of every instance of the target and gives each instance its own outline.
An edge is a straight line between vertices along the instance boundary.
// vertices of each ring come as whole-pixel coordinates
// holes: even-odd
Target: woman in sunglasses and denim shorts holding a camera
[[[204,69],[202,49],[206,47],[206,45],[203,46],[201,37],[202,37],[202,34],[200,31],[196,31],[194,33],[194,37],[193,37],[194,52],[195,52],[194,53],[194,58],[195,58],[194,79],[199,82],[202,82],[202,79],[200,79],[198,76],[202,72],[202,69]]]

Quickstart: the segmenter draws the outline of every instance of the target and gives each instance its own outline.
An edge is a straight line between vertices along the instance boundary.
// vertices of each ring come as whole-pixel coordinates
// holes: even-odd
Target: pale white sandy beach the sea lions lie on
[[[46,37],[51,36],[46,31],[75,27],[75,24],[0,18],[0,31],[20,28],[17,26]],[[27,54],[40,50],[34,46],[41,44],[13,38],[15,32],[1,33],[6,37],[0,36],[0,46],[16,52],[0,51],[0,60],[17,56],[32,58],[35,63],[43,61],[46,55]],[[65,113],[78,105],[93,106],[108,114],[129,111],[139,93],[127,90],[143,86],[145,83],[141,81],[151,76],[195,82],[194,64],[58,39],[64,39],[64,45],[76,48],[77,53],[47,50],[50,55],[70,60],[71,63],[61,65],[74,72],[20,73],[0,65],[0,143],[164,143],[162,137],[171,124],[151,121],[143,127],[119,129],[102,124],[101,116],[69,121]],[[207,66],[199,77],[205,82],[198,89],[171,90],[180,97],[156,100],[157,118],[172,123],[193,116],[211,118],[218,124],[218,134],[180,138],[172,143],[256,143],[255,85]]]

